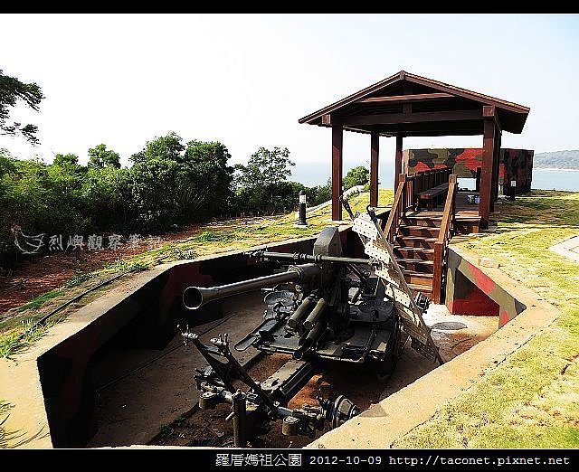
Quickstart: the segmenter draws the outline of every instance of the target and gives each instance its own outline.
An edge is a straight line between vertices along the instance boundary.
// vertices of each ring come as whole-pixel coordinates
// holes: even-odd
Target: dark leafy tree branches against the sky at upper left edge
[[[35,125],[22,125],[9,120],[10,109],[16,106],[19,100],[34,111],[39,110],[41,100],[44,98],[43,91],[35,83],[24,83],[15,77],[5,75],[0,70],[0,134],[15,136],[21,134],[32,144],[38,144]]]

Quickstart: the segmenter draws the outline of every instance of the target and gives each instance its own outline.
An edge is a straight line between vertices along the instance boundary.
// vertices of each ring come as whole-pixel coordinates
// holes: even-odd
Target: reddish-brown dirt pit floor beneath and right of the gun
[[[426,323],[432,327],[432,339],[440,347],[445,361],[464,353],[470,347],[492,335],[498,328],[497,316],[452,316],[444,306],[432,305],[425,316]],[[249,373],[258,382],[265,380],[277,371],[290,356],[273,354],[261,358]],[[383,400],[388,395],[399,391],[422,375],[436,368],[437,364],[424,359],[410,345],[406,345],[393,375],[379,379],[375,373],[361,372],[349,365],[339,365],[316,373],[311,380],[289,401],[289,408],[300,408],[304,404],[318,405],[318,392],[324,398],[344,394],[353,401],[361,411],[372,404]],[[327,366],[326,366],[327,367]],[[240,385],[241,387],[242,385]],[[245,390],[245,389],[243,389]],[[187,418],[181,417],[165,432],[151,442],[158,446],[212,446],[232,445],[233,422],[226,417],[231,413],[231,406],[218,405],[214,410],[195,411]],[[253,439],[254,448],[303,448],[312,442],[303,436],[287,437],[281,434],[281,421],[271,423],[271,431]],[[316,438],[324,434],[318,431]]]

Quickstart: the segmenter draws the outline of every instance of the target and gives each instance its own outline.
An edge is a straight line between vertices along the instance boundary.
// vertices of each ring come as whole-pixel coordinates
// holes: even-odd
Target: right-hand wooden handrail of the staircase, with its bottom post
[[[442,273],[448,242],[451,239],[451,231],[455,228],[456,218],[456,193],[458,185],[456,174],[449,176],[449,192],[446,195],[444,211],[442,212],[441,231],[438,240],[434,243],[434,267],[432,274],[432,302],[441,303],[442,298]]]

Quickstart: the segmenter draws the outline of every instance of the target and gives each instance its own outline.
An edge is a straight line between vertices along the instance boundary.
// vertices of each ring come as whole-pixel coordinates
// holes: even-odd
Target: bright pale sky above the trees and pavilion
[[[502,146],[579,149],[579,15],[0,14],[0,69],[36,82],[40,146],[0,136],[13,156],[116,150],[121,162],[175,131],[217,140],[232,164],[288,147],[294,180],[324,183],[331,131],[298,119],[398,71],[530,107]],[[394,137],[380,138],[392,187]],[[481,146],[482,137],[413,137],[404,148]],[[368,165],[370,137],[346,132],[344,169]]]

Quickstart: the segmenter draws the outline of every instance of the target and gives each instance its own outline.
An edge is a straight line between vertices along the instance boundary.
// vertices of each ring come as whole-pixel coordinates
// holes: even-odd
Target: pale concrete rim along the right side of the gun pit
[[[479,255],[453,247],[477,265]],[[560,315],[530,288],[522,287],[502,270],[479,267],[527,308],[518,316],[448,363],[379,401],[336,430],[328,431],[307,448],[392,448],[396,439],[430,420],[445,404],[475,385],[481,376],[525,345]]]

